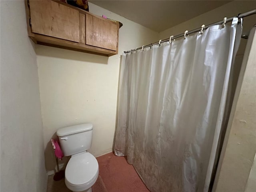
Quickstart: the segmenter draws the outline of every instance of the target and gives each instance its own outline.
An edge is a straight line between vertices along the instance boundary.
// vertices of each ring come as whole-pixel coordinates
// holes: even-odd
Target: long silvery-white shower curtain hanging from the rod
[[[234,18],[122,55],[114,151],[151,192],[208,191],[237,34]]]

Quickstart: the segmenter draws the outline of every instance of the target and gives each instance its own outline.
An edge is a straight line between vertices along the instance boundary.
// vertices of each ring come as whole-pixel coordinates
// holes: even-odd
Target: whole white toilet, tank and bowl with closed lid
[[[96,158],[86,152],[92,144],[92,124],[60,128],[57,131],[64,156],[70,156],[65,170],[65,184],[74,192],[92,192],[99,175]]]

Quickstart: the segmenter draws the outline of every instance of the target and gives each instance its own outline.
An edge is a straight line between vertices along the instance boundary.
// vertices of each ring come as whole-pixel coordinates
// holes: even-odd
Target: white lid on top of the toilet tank
[[[92,130],[92,124],[84,123],[84,124],[59,128],[57,130],[57,136],[66,136],[66,135],[71,135],[71,134],[90,131],[90,130]]]

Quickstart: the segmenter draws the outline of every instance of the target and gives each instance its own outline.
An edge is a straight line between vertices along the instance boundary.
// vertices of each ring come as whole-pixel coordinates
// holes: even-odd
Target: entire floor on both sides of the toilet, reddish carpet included
[[[92,192],[150,192],[126,157],[117,157],[112,152],[96,158],[99,176],[92,186]],[[85,173],[86,174],[86,173]],[[62,178],[54,181],[48,177],[47,192],[71,192]]]

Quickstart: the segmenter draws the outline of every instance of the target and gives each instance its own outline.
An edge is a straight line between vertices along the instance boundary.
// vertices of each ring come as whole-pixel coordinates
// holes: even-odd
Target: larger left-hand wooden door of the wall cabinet
[[[54,1],[30,0],[32,32],[79,42],[79,12]]]

